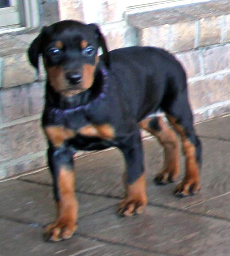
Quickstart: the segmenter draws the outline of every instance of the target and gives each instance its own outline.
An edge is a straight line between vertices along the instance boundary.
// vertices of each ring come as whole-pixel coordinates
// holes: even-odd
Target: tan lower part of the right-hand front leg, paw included
[[[133,184],[125,187],[126,195],[119,203],[117,213],[122,216],[143,213],[147,204],[145,174],[140,176]]]

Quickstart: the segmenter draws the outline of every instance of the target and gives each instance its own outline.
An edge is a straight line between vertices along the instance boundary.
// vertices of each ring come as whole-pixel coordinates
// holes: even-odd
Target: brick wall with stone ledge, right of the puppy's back
[[[140,45],[163,47],[180,60],[195,122],[229,113],[230,2],[150,9],[128,10],[129,24],[140,30]]]

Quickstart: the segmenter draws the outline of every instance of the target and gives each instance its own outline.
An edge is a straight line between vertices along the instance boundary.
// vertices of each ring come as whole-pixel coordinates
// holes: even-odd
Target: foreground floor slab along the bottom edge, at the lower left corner
[[[43,230],[40,228],[5,219],[0,219],[0,225],[1,256],[164,256],[164,254],[145,252],[130,246],[109,245],[78,235],[58,243],[44,242]]]

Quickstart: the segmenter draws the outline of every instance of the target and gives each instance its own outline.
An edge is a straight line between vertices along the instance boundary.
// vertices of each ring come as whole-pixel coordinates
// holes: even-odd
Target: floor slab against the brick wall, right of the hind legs
[[[195,128],[201,136],[230,140],[229,124],[230,115],[196,124]]]

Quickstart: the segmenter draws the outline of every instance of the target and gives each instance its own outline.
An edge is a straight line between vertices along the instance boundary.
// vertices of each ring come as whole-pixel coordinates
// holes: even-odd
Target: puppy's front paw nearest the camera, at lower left
[[[76,229],[76,224],[56,221],[45,227],[44,239],[45,241],[51,242],[57,242],[62,239],[69,239],[72,237]]]

